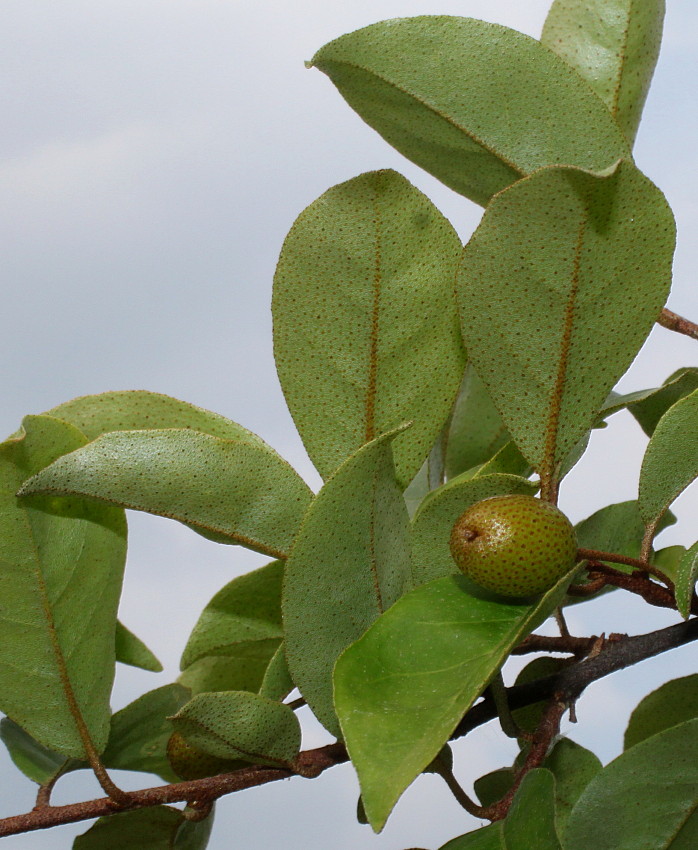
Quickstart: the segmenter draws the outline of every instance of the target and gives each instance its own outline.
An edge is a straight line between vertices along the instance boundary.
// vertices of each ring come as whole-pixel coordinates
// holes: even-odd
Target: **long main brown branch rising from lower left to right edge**
[[[540,640],[541,637],[532,635],[531,640],[533,641],[533,638]],[[557,638],[557,640],[563,639]],[[698,640],[698,618],[646,635],[607,641],[600,653],[593,658],[572,664],[556,675],[507,688],[507,700],[512,709],[524,708],[552,697],[555,697],[557,701],[569,702],[576,699],[592,682],[610,673],[694,640]],[[451,735],[451,739],[466,735],[496,716],[494,701],[483,699],[465,715]],[[124,803],[116,803],[108,797],[103,797],[67,806],[43,806],[22,815],[0,820],[0,837],[90,820],[131,809],[178,802],[202,804],[217,800],[234,791],[265,785],[267,782],[275,782],[279,779],[289,779],[294,775],[313,779],[327,768],[342,764],[348,759],[344,744],[336,742],[300,753],[294,765],[295,772],[251,765],[233,773],[206,779],[161,785],[141,791],[125,791],[123,792]]]

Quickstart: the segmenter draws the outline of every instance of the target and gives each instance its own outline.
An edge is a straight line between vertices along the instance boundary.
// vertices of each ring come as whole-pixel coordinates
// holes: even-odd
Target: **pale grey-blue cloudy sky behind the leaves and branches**
[[[668,306],[698,317],[698,8],[672,0],[635,148],[678,222]],[[482,210],[393,151],[304,60],[327,41],[378,20],[452,14],[538,36],[547,0],[5,0],[0,10],[0,244],[3,307],[0,426],[14,431],[77,395],[149,389],[215,410],[263,437],[317,489],[276,378],[269,302],[282,241],[301,210],[364,171],[395,168],[447,215],[462,239]],[[619,388],[655,386],[698,365],[695,343],[655,329]],[[627,414],[595,434],[566,479],[561,507],[578,521],[635,498],[646,440]],[[662,545],[694,542],[689,491]],[[683,519],[683,522],[681,520]],[[693,527],[695,524],[693,523]],[[227,581],[264,563],[174,522],[129,516],[121,618],[165,664],[119,669],[114,708],[171,681],[201,608]],[[579,634],[644,632],[676,621],[621,592],[577,606]],[[688,650],[590,688],[565,731],[604,762],[620,752],[637,700],[696,671]],[[328,740],[304,710],[304,746]],[[466,786],[510,763],[493,724],[456,745]],[[460,758],[458,756],[460,755]],[[152,777],[119,776],[130,787]],[[57,802],[96,794],[69,776]],[[0,753],[0,815],[31,808],[34,787]],[[420,779],[380,836],[355,819],[350,766],[233,795],[218,807],[212,850],[436,850],[473,829],[440,780]],[[5,839],[58,850],[85,825]]]

